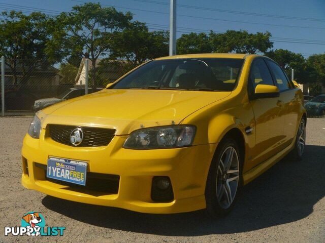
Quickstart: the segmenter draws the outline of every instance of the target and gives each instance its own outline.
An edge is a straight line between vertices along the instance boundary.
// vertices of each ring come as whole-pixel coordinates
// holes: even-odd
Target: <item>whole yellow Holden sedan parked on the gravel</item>
[[[303,94],[271,59],[157,58],[106,89],[39,111],[22,185],[143,213],[228,213],[240,188],[303,155]]]

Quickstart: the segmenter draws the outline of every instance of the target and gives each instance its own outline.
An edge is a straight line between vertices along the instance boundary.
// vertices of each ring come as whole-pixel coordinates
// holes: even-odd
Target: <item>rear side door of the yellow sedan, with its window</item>
[[[281,147],[285,148],[296,135],[300,109],[299,96],[297,88],[291,84],[282,68],[272,60],[267,59],[266,62],[280,91],[280,97],[278,98],[280,106],[279,116],[283,120],[283,136],[285,136],[285,141]]]

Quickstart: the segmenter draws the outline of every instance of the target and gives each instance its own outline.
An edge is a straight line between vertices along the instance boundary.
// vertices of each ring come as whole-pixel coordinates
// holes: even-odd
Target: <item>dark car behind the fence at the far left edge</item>
[[[8,90],[5,92],[5,111],[7,110],[31,110],[38,97],[25,90]],[[2,99],[0,94],[0,110]]]

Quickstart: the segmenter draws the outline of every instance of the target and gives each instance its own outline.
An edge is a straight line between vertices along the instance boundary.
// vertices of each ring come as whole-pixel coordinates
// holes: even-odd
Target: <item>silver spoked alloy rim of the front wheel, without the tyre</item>
[[[228,209],[236,196],[239,184],[239,158],[236,149],[224,149],[217,168],[216,193],[221,208]]]

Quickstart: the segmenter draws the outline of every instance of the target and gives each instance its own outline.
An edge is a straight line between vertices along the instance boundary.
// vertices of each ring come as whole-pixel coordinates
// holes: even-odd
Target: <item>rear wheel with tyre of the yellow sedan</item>
[[[305,143],[306,143],[306,120],[305,118],[302,118],[300,120],[297,135],[296,135],[295,147],[289,153],[289,157],[292,160],[299,161],[302,159]]]

